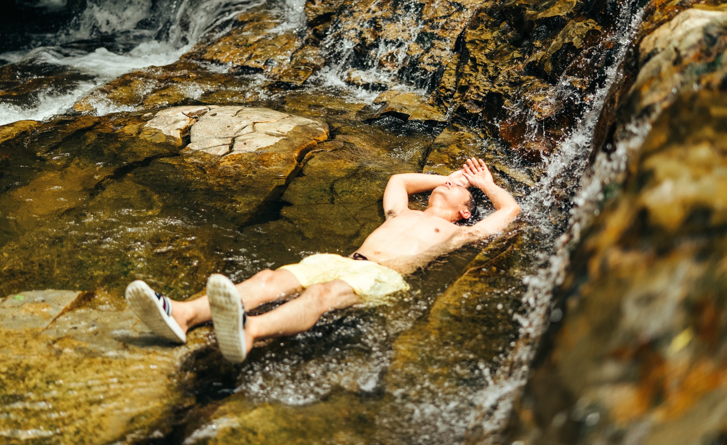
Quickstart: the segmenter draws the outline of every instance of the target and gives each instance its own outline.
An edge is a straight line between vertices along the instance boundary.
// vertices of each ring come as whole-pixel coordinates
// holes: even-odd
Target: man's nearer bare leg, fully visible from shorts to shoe
[[[332,309],[345,309],[361,303],[361,297],[353,292],[348,283],[335,279],[320,285],[312,285],[293,301],[256,317],[247,318],[245,343],[247,352],[255,340],[284,337],[305,332],[313,327],[321,315]]]

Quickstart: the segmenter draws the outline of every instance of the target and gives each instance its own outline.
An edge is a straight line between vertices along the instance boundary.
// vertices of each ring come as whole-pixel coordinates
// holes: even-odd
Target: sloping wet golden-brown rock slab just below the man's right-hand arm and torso
[[[513,312],[521,308],[520,295],[525,290],[522,274],[529,266],[521,236],[515,229],[490,242],[437,298],[427,316],[395,340],[386,375],[387,391],[406,413],[392,416],[398,423],[387,425],[386,443],[436,433],[437,428],[430,426],[436,418],[433,415],[425,414],[428,421],[420,423],[417,430],[406,425],[404,419],[414,415],[406,407],[445,407],[462,396],[462,391],[474,393],[486,388],[488,380],[499,374],[499,367],[505,368],[505,374],[509,372],[504,358],[518,339]],[[450,404],[446,412],[470,419],[467,436],[483,438],[495,432],[478,429],[486,415],[478,408]]]

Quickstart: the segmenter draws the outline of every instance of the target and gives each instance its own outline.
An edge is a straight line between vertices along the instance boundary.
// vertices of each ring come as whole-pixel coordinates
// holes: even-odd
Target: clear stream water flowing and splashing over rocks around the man
[[[265,203],[244,224],[225,208],[231,195],[244,190],[220,189],[199,173],[175,168],[174,156],[149,154],[133,143],[132,148],[121,150],[117,144],[115,151],[106,150],[116,136],[103,128],[141,122],[140,113],[128,113],[135,107],[101,109],[98,114],[104,116],[99,117],[52,118],[121,73],[177,60],[197,41],[210,38],[208,33],[221,34],[236,12],[255,6],[249,1],[89,1],[66,28],[33,34],[24,46],[0,54],[12,63],[7,67],[22,68],[28,77],[56,70],[56,77],[63,78],[25,103],[0,103],[0,124],[47,121],[31,136],[32,150],[13,158],[0,177],[0,216],[7,221],[0,229],[0,250],[12,258],[2,271],[2,295],[26,287],[104,289],[121,295],[130,279],[145,279],[181,299],[201,290],[212,272],[238,281],[311,253],[348,254],[383,221],[379,197],[388,176],[421,171],[442,128],[392,117],[370,120],[377,94],[343,81],[353,57],[353,44],[346,38],[327,42],[334,60],[302,90],[263,95],[255,102],[286,109],[296,100],[322,97],[356,105],[355,119],[321,107],[331,139],[345,144],[309,160],[279,200]],[[416,5],[410,6],[402,20],[417,20]],[[302,26],[302,4],[273,7],[287,17],[281,32]],[[624,168],[623,150],[608,157],[601,153],[593,166],[589,163],[601,109],[622,75],[620,64],[640,20],[634,4],[620,8],[616,32],[601,55],[606,61],[601,63],[602,81],[579,99],[582,113],[546,158],[534,185],[519,190],[521,269],[480,297],[486,354],[463,358],[459,380],[446,380],[443,386],[406,380],[390,370],[393,343],[425,319],[482,246],[451,253],[414,274],[411,293],[393,306],[328,314],[309,332],[255,349],[240,367],[199,362],[193,390],[197,403],[244,398],[284,407],[323,401],[335,408],[355,400],[364,414],[353,423],[371,443],[460,443],[473,430],[497,441],[547,327],[551,293],[562,281],[569,245],[603,200],[601,185]],[[412,28],[411,38],[418,32]],[[399,62],[406,57],[405,46],[382,47],[376,57],[392,51]],[[407,83],[401,81],[406,75],[371,65],[360,69],[380,84],[402,91],[425,91],[429,84],[427,79]],[[556,79],[555,85],[558,94],[570,94],[568,79]],[[531,118],[528,128],[526,136],[535,140],[538,121]],[[483,152],[502,149],[501,142],[488,137],[479,144]],[[521,159],[510,162],[527,165]],[[68,187],[71,178],[75,188]],[[425,199],[413,197],[411,204],[423,207]],[[481,213],[491,210],[489,203],[481,204]],[[437,363],[435,367],[443,366]],[[225,422],[229,420],[193,425],[184,443],[209,440]]]

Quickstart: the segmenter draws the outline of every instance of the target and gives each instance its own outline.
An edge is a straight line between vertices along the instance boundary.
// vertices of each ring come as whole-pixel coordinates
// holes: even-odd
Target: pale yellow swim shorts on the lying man
[[[401,274],[388,267],[334,253],[317,253],[303,258],[298,264],[288,264],[280,269],[292,272],[304,289],[340,279],[353,287],[353,292],[370,305],[387,303],[387,295],[409,290]]]

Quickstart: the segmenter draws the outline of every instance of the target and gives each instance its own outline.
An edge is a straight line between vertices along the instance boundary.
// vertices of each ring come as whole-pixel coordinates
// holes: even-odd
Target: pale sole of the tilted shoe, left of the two
[[[161,338],[173,343],[186,343],[187,335],[179,324],[164,311],[161,301],[154,291],[140,279],[126,286],[126,301],[129,301],[134,314],[146,324],[150,330]]]

